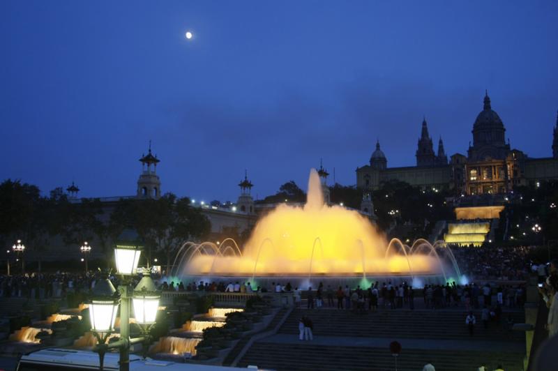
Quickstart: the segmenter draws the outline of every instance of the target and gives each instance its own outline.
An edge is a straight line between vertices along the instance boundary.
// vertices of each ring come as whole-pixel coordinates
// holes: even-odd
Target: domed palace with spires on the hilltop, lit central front
[[[552,157],[548,158],[529,158],[526,153],[511,149],[505,132],[487,92],[483,110],[473,124],[473,144],[469,142],[467,156],[455,153],[448,161],[441,137],[435,152],[428,124],[423,119],[416,166],[388,167],[377,142],[370,164],[356,169],[356,185],[375,190],[393,179],[421,188],[450,189],[455,195],[495,195],[510,192],[517,185],[558,179],[558,119],[553,132]]]

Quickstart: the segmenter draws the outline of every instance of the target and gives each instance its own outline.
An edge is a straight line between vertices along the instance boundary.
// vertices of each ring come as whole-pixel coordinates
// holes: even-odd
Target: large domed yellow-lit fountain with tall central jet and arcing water
[[[261,218],[243,252],[236,242],[185,243],[174,261],[175,276],[255,278],[367,276],[459,277],[457,262],[444,244],[419,239],[412,246],[387,241],[357,211],[324,204],[322,184],[310,172],[303,207],[280,204]]]

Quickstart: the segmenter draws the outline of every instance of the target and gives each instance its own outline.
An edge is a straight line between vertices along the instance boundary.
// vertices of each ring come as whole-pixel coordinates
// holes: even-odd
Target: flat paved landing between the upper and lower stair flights
[[[349,336],[315,336],[312,341],[301,341],[299,335],[276,334],[259,342],[276,342],[278,344],[309,344],[337,347],[371,347],[389,348],[389,343],[397,340],[402,349],[439,349],[439,350],[472,350],[472,351],[520,351],[525,352],[523,342],[494,342],[472,338],[463,340],[425,340],[425,339],[389,339],[389,338],[357,338]]]

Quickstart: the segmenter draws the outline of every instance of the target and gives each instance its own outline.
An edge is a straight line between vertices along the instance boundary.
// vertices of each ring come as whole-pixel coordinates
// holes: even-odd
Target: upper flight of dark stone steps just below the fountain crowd
[[[467,340],[469,330],[465,325],[465,310],[381,310],[357,315],[347,310],[294,310],[281,326],[279,333],[298,334],[299,319],[309,316],[315,335],[335,335],[369,338],[414,338]],[[511,331],[505,325],[490,324],[485,330],[481,312],[475,311],[477,325],[475,338],[496,341],[521,341],[525,334]],[[523,312],[504,312],[514,323],[525,322]]]

